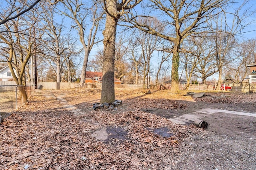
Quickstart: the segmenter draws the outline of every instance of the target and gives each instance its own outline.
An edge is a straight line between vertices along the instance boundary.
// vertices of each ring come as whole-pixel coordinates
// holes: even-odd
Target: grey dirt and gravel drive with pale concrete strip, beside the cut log
[[[207,135],[196,135],[182,143],[186,151],[176,168],[256,169],[256,113],[249,112],[256,111],[256,104],[244,107],[247,104],[180,102],[188,107],[172,111],[148,110],[170,120],[184,121],[184,115],[192,114],[208,122]]]

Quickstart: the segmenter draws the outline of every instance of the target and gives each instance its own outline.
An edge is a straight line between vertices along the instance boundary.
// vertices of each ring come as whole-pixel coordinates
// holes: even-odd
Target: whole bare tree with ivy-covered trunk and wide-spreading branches
[[[228,0],[150,0],[149,8],[158,10],[162,14],[163,25],[169,31],[159,33],[150,27],[143,20],[126,20],[147,33],[162,37],[172,43],[172,92],[178,92],[178,67],[180,64],[181,43],[191,35],[197,35],[207,28],[208,20],[211,20],[220,12],[224,12],[224,7]],[[219,10],[219,11],[218,11]],[[129,26],[129,25],[128,25]]]

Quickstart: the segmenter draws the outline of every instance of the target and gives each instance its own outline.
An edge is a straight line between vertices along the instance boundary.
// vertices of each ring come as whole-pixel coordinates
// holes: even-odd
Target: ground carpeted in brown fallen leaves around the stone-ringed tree
[[[190,135],[204,133],[140,111],[145,107],[186,107],[167,99],[140,99],[143,92],[117,94],[124,102],[119,111],[93,111],[92,103],[98,102],[100,94],[96,90],[53,94],[62,95],[82,114],[64,108],[50,91],[36,91],[31,102],[0,126],[0,169],[170,169],[179,160],[180,143]],[[102,127],[124,129],[125,140],[98,141],[92,133]],[[167,127],[173,136],[150,131],[160,127]]]

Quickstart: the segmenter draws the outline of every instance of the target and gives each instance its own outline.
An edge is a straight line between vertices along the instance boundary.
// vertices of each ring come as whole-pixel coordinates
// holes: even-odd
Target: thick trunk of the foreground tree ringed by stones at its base
[[[116,1],[107,1],[107,9],[112,14],[116,14]],[[115,101],[115,86],[114,86],[114,61],[115,61],[115,46],[116,46],[116,25],[118,18],[113,18],[109,14],[106,17],[104,35],[104,54],[103,54],[103,69],[102,69],[102,91],[100,103],[112,103]]]

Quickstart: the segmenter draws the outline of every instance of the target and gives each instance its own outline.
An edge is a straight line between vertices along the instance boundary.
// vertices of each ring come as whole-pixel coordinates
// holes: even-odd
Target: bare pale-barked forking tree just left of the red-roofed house
[[[102,41],[96,39],[96,34],[103,12],[99,10],[99,3],[96,3],[96,1],[92,1],[91,5],[83,0],[63,0],[62,3],[65,7],[65,11],[62,13],[75,22],[73,27],[77,29],[80,42],[84,47],[84,62],[80,76],[80,82],[84,83],[90,51],[94,44]],[[88,22],[90,22],[90,29],[88,29]]]

